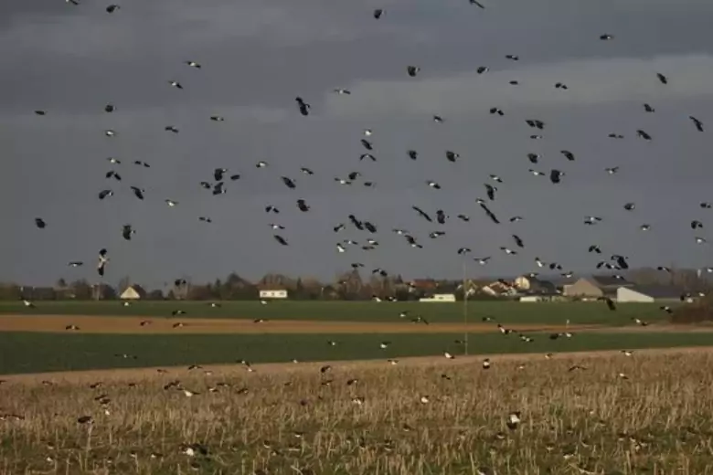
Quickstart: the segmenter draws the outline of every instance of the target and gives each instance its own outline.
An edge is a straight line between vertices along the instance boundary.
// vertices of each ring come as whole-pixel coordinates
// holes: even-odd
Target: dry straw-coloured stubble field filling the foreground
[[[713,352],[492,361],[144,371],[95,388],[21,376],[0,385],[0,414],[20,416],[0,421],[0,474],[713,473]],[[164,389],[174,379],[201,394]],[[181,452],[193,443],[208,455]]]

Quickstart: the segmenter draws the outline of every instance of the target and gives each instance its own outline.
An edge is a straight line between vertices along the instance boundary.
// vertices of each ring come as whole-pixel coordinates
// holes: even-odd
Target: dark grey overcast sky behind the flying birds
[[[111,258],[107,281],[128,275],[149,287],[232,270],[250,279],[333,279],[352,262],[364,263],[365,275],[380,267],[408,278],[458,277],[461,247],[473,249],[471,258],[492,256],[487,266],[470,260],[473,275],[535,271],[535,257],[580,273],[612,254],[633,267],[713,264],[713,210],[699,206],[713,201],[713,3],[483,1],[484,10],[467,0],[120,0],[113,14],[96,0],[0,2],[0,281],[98,281],[100,248]],[[374,8],[385,9],[378,20]],[[605,33],[614,38],[601,41]],[[420,67],[416,78],[409,65]],[[479,75],[480,66],[490,70]],[[312,105],[308,117],[296,96]],[[104,112],[107,103],[116,111]],[[168,125],[180,132],[165,132]],[[365,128],[374,131],[375,163],[359,161]],[[530,139],[535,133],[543,138]],[[448,162],[446,150],[460,159]],[[539,164],[527,153],[540,153]],[[269,166],[258,169],[259,161]],[[303,166],[314,175],[301,174]],[[604,171],[613,166],[618,174]],[[199,182],[213,183],[217,167],[241,179],[214,196]],[[565,175],[552,185],[530,168]],[[110,170],[122,181],[106,179]],[[363,174],[353,185],[335,182],[353,171]],[[488,206],[500,225],[475,203],[486,198],[486,182],[498,188]],[[146,189],[144,201],[131,185]],[[100,201],[104,189],[114,195]],[[309,212],[297,209],[299,198]],[[265,213],[267,205],[281,213]],[[413,205],[451,217],[428,223]],[[378,234],[358,231],[350,214]],[[584,226],[589,215],[603,220]],[[35,217],[48,226],[35,227]],[[693,219],[704,228],[692,230]],[[650,231],[639,229],[644,223]],[[136,230],[131,241],[122,238],[125,224]],[[423,248],[410,248],[394,227]],[[436,230],[446,235],[429,238]],[[525,248],[507,256],[500,247],[516,248],[512,234]],[[697,236],[711,242],[696,244]],[[335,248],[368,237],[378,240],[375,250]],[[591,244],[602,256],[587,252]],[[85,266],[69,269],[73,260]]]

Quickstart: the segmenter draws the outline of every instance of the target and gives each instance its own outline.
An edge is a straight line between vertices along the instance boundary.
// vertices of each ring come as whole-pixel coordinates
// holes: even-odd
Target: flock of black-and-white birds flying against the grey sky
[[[66,0],[69,5],[73,6],[80,6],[80,1],[79,0]],[[485,5],[481,2],[475,1],[475,0],[469,0],[470,5],[474,5],[475,7],[485,9]],[[120,5],[108,5],[106,7],[106,12],[107,14],[113,15],[117,14],[121,9]],[[386,10],[383,8],[378,8],[373,11],[373,18],[375,20],[383,20],[383,18],[386,16]],[[599,40],[601,41],[614,41],[614,37],[611,34],[605,33],[601,34],[599,37]],[[505,59],[509,61],[519,61],[520,57],[518,55],[514,54],[509,54],[505,56]],[[185,67],[188,69],[195,69],[196,71],[201,71],[204,67],[203,65],[193,59],[186,59],[184,61]],[[419,77],[420,74],[420,66],[418,65],[407,65],[404,67],[404,73],[407,78],[411,79],[416,79]],[[490,70],[489,67],[487,66],[480,66],[478,69],[476,69],[478,74],[486,74]],[[645,79],[643,79],[645,80]],[[662,88],[665,88],[668,84],[670,79],[662,72],[656,72],[653,75],[652,80],[656,80],[660,83]],[[173,88],[175,90],[184,90],[184,85],[181,83],[181,81],[177,79],[165,79],[166,87]],[[517,80],[512,80],[510,81],[510,84],[516,86],[519,84],[519,81]],[[558,90],[569,90],[569,85],[565,84],[563,82],[556,82],[554,84],[554,87]],[[344,88],[335,88],[333,92],[337,95],[347,95],[350,96],[352,94],[351,90],[347,90]],[[302,117],[309,117],[313,113],[313,107],[310,104],[310,102],[303,97],[295,97],[295,106],[296,106],[296,112],[300,114]],[[655,108],[653,105],[649,103],[644,103],[643,104],[644,111],[647,113],[654,113]],[[108,114],[111,114],[115,111],[117,111],[117,106],[112,104],[112,103],[107,103],[104,106],[104,111]],[[490,109],[490,114],[495,114],[495,115],[505,115],[505,111],[503,111],[500,108],[493,107]],[[38,116],[45,116],[50,113],[49,111],[46,110],[37,110],[36,111]],[[209,117],[210,121],[226,121],[226,118],[219,116],[219,115],[213,115]],[[704,132],[705,131],[705,126],[704,122],[698,119],[696,116],[689,116],[689,121],[691,121],[691,125],[695,127],[697,132]],[[441,123],[444,121],[444,118],[440,115],[433,115],[432,120],[436,123]],[[532,140],[539,140],[543,139],[543,133],[545,133],[548,130],[548,124],[546,121],[543,121],[541,119],[537,118],[525,118],[523,120],[526,124],[527,127],[531,129],[531,135],[530,139]],[[165,126],[165,131],[166,132],[171,132],[171,133],[179,133],[180,131],[178,128],[176,128],[173,125],[167,125]],[[364,148],[364,153],[362,153],[359,156],[359,161],[371,161],[371,162],[377,162],[378,158],[376,156],[377,153],[377,144],[373,141],[372,135],[374,135],[374,131],[371,129],[366,129],[363,131],[364,137],[360,139],[360,143]],[[107,129],[104,131],[104,134],[106,135],[107,138],[113,138],[115,137],[118,132],[113,130],[113,129]],[[638,139],[643,140],[643,141],[652,141],[653,137],[650,133],[645,132],[642,129],[638,129],[635,132],[635,135]],[[609,137],[612,140],[621,140],[624,138],[623,134],[618,133],[618,132],[612,132],[609,134]],[[419,160],[420,154],[417,150],[407,150],[405,151],[406,156],[410,160]],[[569,150],[561,150],[560,153],[562,156],[567,160],[567,162],[576,162],[576,154],[573,153],[572,151]],[[460,153],[457,153],[452,150],[447,150],[444,153],[444,158],[448,163],[457,163],[461,155]],[[540,164],[540,158],[541,154],[539,153],[527,153],[527,160],[531,166],[535,166]],[[107,159],[108,163],[112,165],[112,168],[108,170],[105,174],[106,179],[112,183],[112,185],[120,185],[122,184],[122,174],[118,171],[118,167],[122,165],[122,160],[116,157],[109,157]],[[152,165],[140,161],[140,160],[135,160],[133,161],[133,164],[138,167],[142,168],[150,168]],[[266,161],[260,161],[255,164],[255,167],[257,169],[265,169],[269,168],[270,164]],[[312,176],[317,174],[317,172],[313,171],[310,168],[307,167],[301,167],[300,172],[303,175],[306,176]],[[604,172],[606,174],[618,174],[620,172],[620,167],[619,166],[611,166],[611,167],[606,167],[604,168]],[[534,176],[543,176],[543,177],[548,177],[549,182],[552,185],[559,185],[562,183],[563,180],[567,179],[567,173],[563,170],[560,170],[559,168],[552,168],[548,171],[543,171],[543,170],[538,170],[535,168],[529,168],[529,173],[533,174]],[[229,172],[228,168],[226,167],[217,167],[212,170],[212,173],[210,171],[207,171],[207,174],[209,174],[211,179],[203,180],[197,183],[200,187],[206,189],[209,193],[212,193],[212,195],[224,195],[228,193],[228,183],[229,182],[235,182],[239,181],[240,179],[243,179],[243,175],[239,173],[234,173],[234,172]],[[353,171],[348,174],[345,174],[344,176],[337,176],[334,177],[334,181],[338,185],[363,185],[367,187],[373,187],[375,186],[375,183],[372,181],[368,180],[361,180],[360,178],[362,177],[362,173],[359,171]],[[279,177],[280,182],[282,182],[282,185],[286,186],[288,189],[297,189],[298,188],[298,183],[299,181],[294,178],[293,176],[287,176],[287,175],[282,175]],[[490,174],[488,177],[488,181],[484,183],[484,195],[486,197],[478,197],[474,201],[475,203],[479,206],[480,210],[484,214],[484,216],[490,220],[495,225],[501,225],[503,221],[507,221],[509,223],[516,223],[518,221],[521,221],[524,219],[524,216],[510,216],[508,218],[502,218],[500,216],[497,216],[493,209],[491,208],[490,204],[492,202],[495,202],[497,199],[497,195],[500,193],[499,190],[499,185],[504,184],[505,180],[501,178],[497,174]],[[424,180],[424,187],[431,188],[433,190],[441,190],[442,185],[439,184],[438,182],[431,180],[431,179],[426,179]],[[144,200],[144,198],[150,199],[151,197],[151,192],[150,190],[146,190],[144,188],[141,188],[139,186],[135,185],[130,185],[128,188],[131,193],[135,196],[136,199],[138,200]],[[98,193],[98,199],[100,200],[106,200],[110,199],[113,195],[115,194],[114,188],[109,185],[104,189],[101,189],[101,191]],[[165,205],[169,207],[175,207],[175,206],[180,206],[179,202],[176,201],[175,199],[171,198],[165,198]],[[312,206],[303,198],[299,198],[295,200],[295,207],[300,213],[309,213],[312,210]],[[710,210],[713,208],[713,204],[710,202],[700,202],[698,204],[699,209],[702,210]],[[633,210],[636,208],[635,203],[626,203],[623,205],[623,209],[628,212],[633,212]],[[275,217],[280,216],[282,213],[282,209],[278,208],[277,206],[274,206],[272,204],[266,204],[264,206],[264,212],[270,215],[274,215]],[[435,212],[429,212],[425,209],[423,209],[420,206],[412,206],[412,211],[415,212],[415,216],[418,218],[422,219],[425,223],[427,223],[426,226],[433,226],[433,227],[439,227],[438,229],[432,230],[427,234],[427,237],[429,239],[438,239],[439,237],[442,237],[446,234],[446,230],[444,230],[444,226],[447,224],[448,220],[451,218],[447,214],[447,212],[443,209],[437,209]],[[335,233],[335,235],[346,232],[347,227],[353,227],[354,230],[359,231],[359,232],[366,232],[367,237],[366,239],[362,240],[357,240],[351,237],[346,237],[343,239],[337,238],[335,242],[335,251],[339,254],[347,253],[351,248],[360,248],[363,251],[370,251],[374,250],[379,246],[379,241],[378,241],[378,231],[379,227],[376,223],[372,223],[368,220],[360,219],[354,214],[350,214],[348,216],[345,216],[346,219],[344,222],[337,223],[335,226],[332,227],[332,231]],[[471,216],[465,215],[465,214],[458,214],[456,216],[457,219],[463,221],[463,222],[469,222],[471,221]],[[213,219],[210,216],[197,216],[197,219],[200,222],[210,224],[213,222]],[[584,216],[583,217],[583,224],[586,226],[595,226],[601,224],[601,222],[604,220],[602,216]],[[45,229],[49,227],[50,225],[48,224],[48,221],[44,217],[37,217],[35,219],[35,224],[37,228],[39,229]],[[695,219],[691,222],[691,228],[694,231],[699,231],[703,225],[703,221],[699,219]],[[271,223],[270,228],[273,231],[273,239],[279,246],[289,246],[290,245],[290,240],[288,237],[286,237],[285,232],[286,229],[285,227],[277,222]],[[651,225],[649,224],[642,224],[640,226],[642,231],[649,231],[651,229]],[[421,243],[422,241],[420,240],[419,237],[416,236],[416,233],[412,233],[407,229],[403,228],[393,228],[392,231],[397,234],[400,237],[403,237],[405,240],[405,243],[410,246],[411,248],[423,248],[423,244]],[[136,234],[137,230],[133,227],[132,224],[125,224],[121,228],[121,234],[123,239],[127,241],[131,241],[133,236]],[[499,246],[500,251],[507,255],[507,256],[516,256],[518,252],[521,249],[526,248],[526,243],[522,237],[520,237],[518,234],[513,233],[512,234],[512,245],[510,244],[503,244]],[[695,235],[694,236],[694,242],[703,245],[707,243],[707,240],[705,237]],[[586,247],[585,247],[586,248]],[[455,250],[458,255],[462,256],[463,258],[466,258],[468,256],[472,256],[472,249],[468,247],[460,247]],[[602,249],[600,246],[596,244],[592,244],[589,246],[589,252],[590,253],[596,253],[596,254],[602,254]],[[99,252],[97,253],[97,258],[96,258],[96,271],[98,275],[103,278],[105,276],[105,273],[107,269],[109,268],[109,263],[110,263],[110,252],[107,248],[101,248]],[[484,266],[490,262],[492,259],[492,256],[475,256],[472,257],[474,262],[477,264]],[[616,252],[611,253],[611,258],[610,259],[601,259],[597,265],[596,269],[609,269],[614,272],[620,271],[620,270],[626,270],[629,269],[629,263],[628,263],[628,258],[617,254]],[[564,265],[552,261],[552,262],[545,262],[542,259],[536,257],[535,258],[535,264],[537,265],[537,268],[540,269],[548,269],[550,271],[559,271],[563,277],[571,277],[573,275],[572,271],[564,269]],[[80,259],[74,259],[69,261],[69,266],[72,268],[77,268],[84,265],[84,261]],[[354,261],[351,262],[351,267],[353,269],[360,269],[366,267],[366,265],[363,262],[360,261]],[[659,266],[659,270],[661,271],[669,271],[670,269],[665,267],[665,266]],[[704,268],[707,273],[713,272],[713,268]],[[389,274],[389,271],[386,269],[382,269],[380,267],[376,267],[374,269],[371,269],[371,273],[374,275],[382,276],[382,277],[387,277]],[[530,272],[528,274],[531,277],[537,276],[537,272]]]

